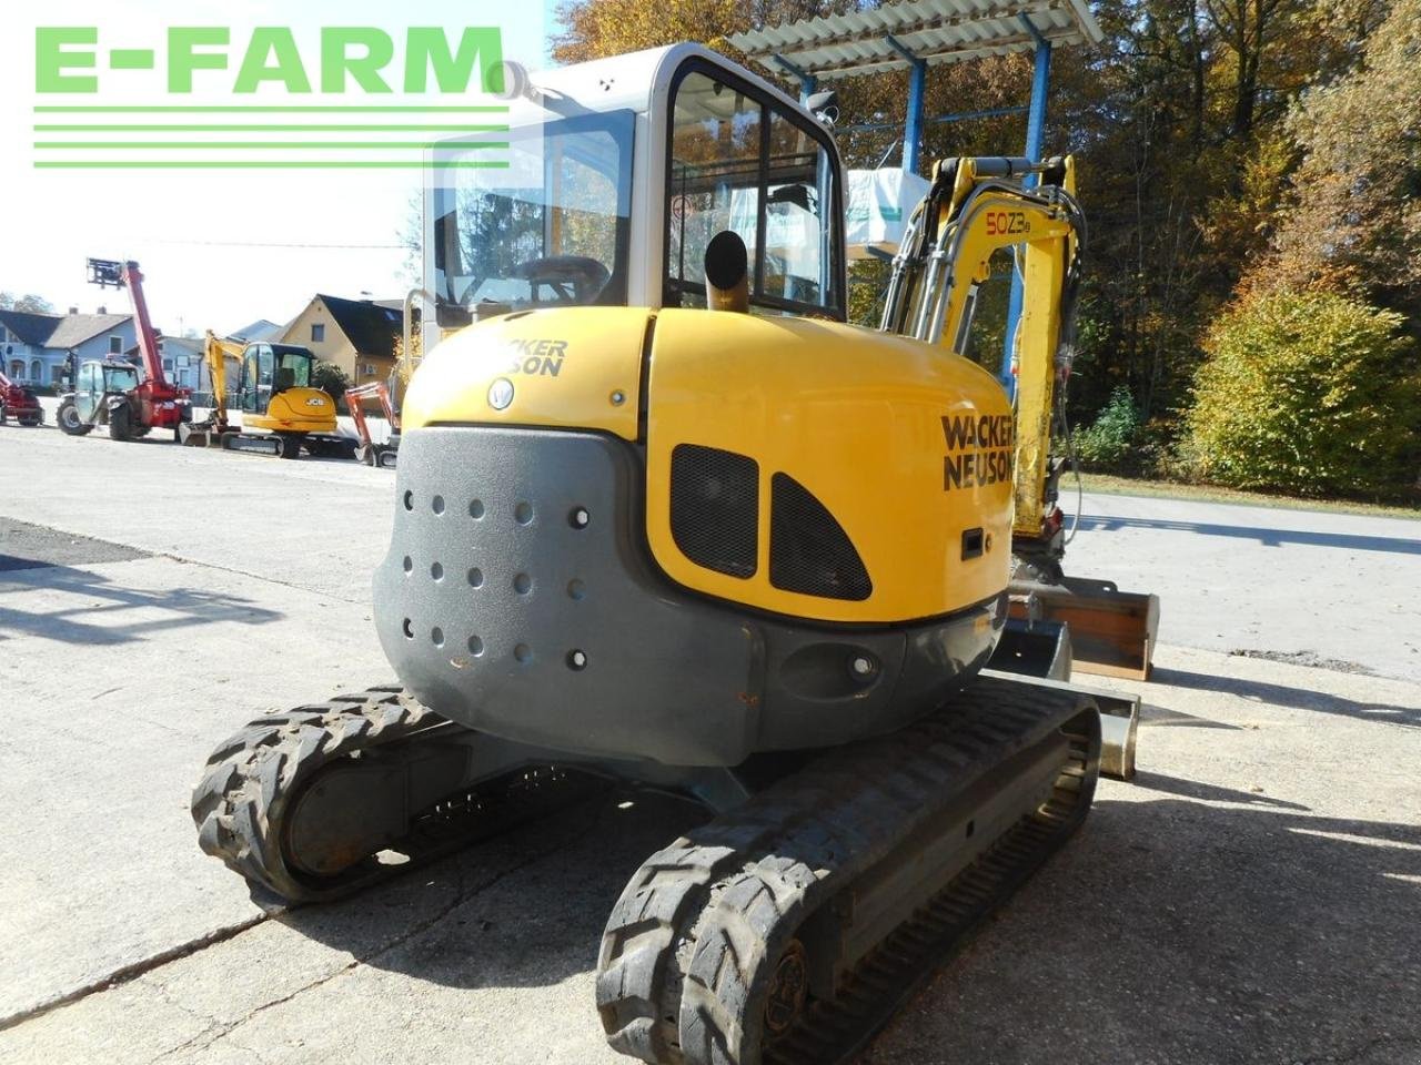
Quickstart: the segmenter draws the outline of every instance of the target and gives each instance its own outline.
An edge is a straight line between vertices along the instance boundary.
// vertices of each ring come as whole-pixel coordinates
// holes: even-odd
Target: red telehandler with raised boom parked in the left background
[[[126,288],[138,320],[138,351],[142,356],[144,379],[128,372],[128,364],[112,359],[85,359],[77,368],[74,392],[60,402],[58,423],[70,436],[84,436],[97,425],[107,425],[115,440],[135,440],[152,429],[172,429],[192,420],[192,395],[178,388],[163,375],[163,361],[158,354],[158,334],[148,320],[148,300],[144,298],[144,275],[138,263],[118,263],[91,258],[90,283],[99,288]]]

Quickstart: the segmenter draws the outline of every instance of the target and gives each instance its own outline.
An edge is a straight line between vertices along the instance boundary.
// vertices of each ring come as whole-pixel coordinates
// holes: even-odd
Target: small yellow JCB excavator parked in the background
[[[222,447],[297,459],[304,447],[313,456],[350,457],[355,442],[335,429],[335,400],[311,386],[315,355],[291,344],[225,341],[207,331],[203,346],[212,379],[212,413],[185,425],[179,439],[188,447]],[[227,412],[227,359],[237,361],[240,427]]]

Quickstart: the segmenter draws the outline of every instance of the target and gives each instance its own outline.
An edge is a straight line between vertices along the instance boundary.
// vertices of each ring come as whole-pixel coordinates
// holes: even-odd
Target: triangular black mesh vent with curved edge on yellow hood
[[[824,599],[867,599],[874,591],[844,527],[784,473],[770,480],[770,584]]]

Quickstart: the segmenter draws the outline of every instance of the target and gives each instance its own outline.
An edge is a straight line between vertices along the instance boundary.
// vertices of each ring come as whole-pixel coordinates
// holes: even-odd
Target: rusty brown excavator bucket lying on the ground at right
[[[1060,584],[1017,581],[1010,616],[1070,626],[1071,655],[1084,673],[1148,680],[1160,633],[1160,596],[1121,592],[1110,581],[1066,577]]]

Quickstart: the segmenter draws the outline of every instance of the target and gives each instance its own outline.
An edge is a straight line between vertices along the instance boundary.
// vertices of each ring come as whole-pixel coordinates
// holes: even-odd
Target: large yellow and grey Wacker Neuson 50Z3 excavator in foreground
[[[314,902],[583,774],[679,791],[716,816],[612,907],[608,1041],[840,1061],[1081,824],[1103,754],[1128,772],[1138,700],[1064,683],[1063,639],[1054,679],[993,659],[1023,559],[1059,558],[1071,162],[935,168],[870,329],[833,138],[749,71],[696,45],[581,64],[509,126],[506,170],[426,193],[449,335],[405,399],[374,585],[399,683],[219,746],[200,843]],[[1000,247],[1015,400],[962,355]]]

